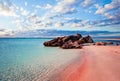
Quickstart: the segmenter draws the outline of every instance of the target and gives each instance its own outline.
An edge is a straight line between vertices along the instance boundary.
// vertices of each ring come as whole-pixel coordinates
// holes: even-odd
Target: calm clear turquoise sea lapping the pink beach
[[[43,42],[48,40],[0,38],[0,81],[47,81],[47,75],[65,64],[62,61],[74,59],[75,51],[44,47]]]

